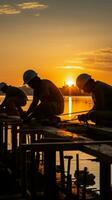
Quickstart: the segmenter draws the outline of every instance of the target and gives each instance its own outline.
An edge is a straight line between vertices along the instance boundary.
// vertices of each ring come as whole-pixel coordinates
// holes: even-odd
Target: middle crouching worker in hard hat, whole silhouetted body
[[[33,100],[27,111],[27,118],[43,119],[63,113],[64,98],[54,83],[40,79],[34,70],[27,70],[23,75],[24,84],[33,89]]]

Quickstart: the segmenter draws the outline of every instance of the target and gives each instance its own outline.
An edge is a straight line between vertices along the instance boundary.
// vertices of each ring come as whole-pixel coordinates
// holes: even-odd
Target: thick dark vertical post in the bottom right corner
[[[108,162],[100,161],[100,198],[111,200],[111,165]]]

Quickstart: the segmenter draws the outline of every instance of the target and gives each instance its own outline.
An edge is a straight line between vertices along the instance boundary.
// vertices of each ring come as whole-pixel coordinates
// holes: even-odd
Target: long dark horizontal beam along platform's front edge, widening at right
[[[68,141],[68,142],[44,142],[44,143],[33,143],[33,144],[22,144],[22,148],[36,151],[45,151],[47,148],[55,149],[59,151],[67,150],[81,150],[89,153],[99,159],[106,159],[106,161],[112,163],[112,146],[107,145],[107,143],[112,144],[112,141]],[[104,144],[103,144],[104,143]]]

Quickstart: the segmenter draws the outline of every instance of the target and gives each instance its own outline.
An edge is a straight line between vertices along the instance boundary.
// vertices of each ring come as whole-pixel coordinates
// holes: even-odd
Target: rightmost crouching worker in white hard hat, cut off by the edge
[[[80,74],[76,79],[79,89],[92,95],[93,108],[79,115],[80,121],[91,120],[98,125],[112,125],[112,86],[95,81],[89,74]]]

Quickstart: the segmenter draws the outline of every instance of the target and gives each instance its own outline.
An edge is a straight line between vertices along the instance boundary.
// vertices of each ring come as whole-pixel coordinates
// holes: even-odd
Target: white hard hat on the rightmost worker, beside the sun
[[[89,74],[80,74],[76,79],[76,85],[79,89],[83,89],[86,83],[91,79]]]

